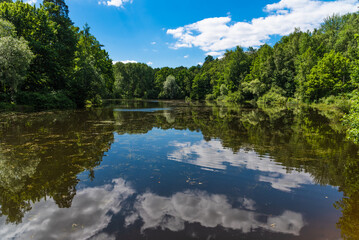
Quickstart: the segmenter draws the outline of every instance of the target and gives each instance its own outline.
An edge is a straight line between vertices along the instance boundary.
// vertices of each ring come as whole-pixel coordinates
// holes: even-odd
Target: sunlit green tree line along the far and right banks
[[[207,56],[202,66],[152,69],[119,62],[114,95],[267,104],[344,97],[359,84],[358,34],[358,13],[334,15],[312,32],[295,29],[273,47],[237,47],[221,58]]]

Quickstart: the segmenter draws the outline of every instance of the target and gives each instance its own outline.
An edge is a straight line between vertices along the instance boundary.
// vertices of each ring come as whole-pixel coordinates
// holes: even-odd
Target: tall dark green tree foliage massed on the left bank
[[[52,102],[51,93],[60,91],[66,93],[66,98],[78,107],[84,106],[86,100],[93,101],[97,95],[102,98],[112,96],[114,77],[108,53],[89,33],[88,26],[79,31],[68,14],[64,0],[45,0],[39,7],[22,1],[0,3],[0,19],[15,26],[12,29],[11,25],[1,20],[0,35],[10,34],[17,39],[2,39],[3,49],[10,52],[10,49],[20,46],[17,51],[24,52],[26,43],[29,47],[25,52],[34,56],[30,66],[31,57],[16,54],[14,61],[6,60],[6,64],[14,66],[11,76],[17,77],[11,77],[9,73],[3,76],[0,93],[16,92],[17,89],[30,94],[38,92],[41,96],[50,97],[48,102]],[[18,76],[22,76],[21,80]]]

